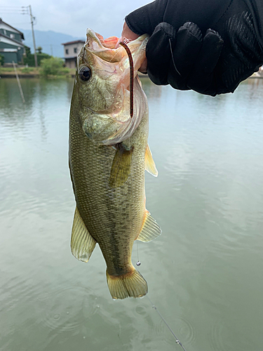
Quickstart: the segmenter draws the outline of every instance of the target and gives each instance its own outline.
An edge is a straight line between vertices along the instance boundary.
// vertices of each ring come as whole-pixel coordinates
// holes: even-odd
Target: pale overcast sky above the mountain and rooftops
[[[28,0],[27,0],[28,1]],[[29,15],[17,14],[16,6],[28,6],[26,0],[1,0],[0,17],[4,22],[22,29],[30,29]],[[148,4],[147,0],[30,0],[36,17],[35,29],[53,30],[73,37],[86,36],[90,27],[109,37],[121,34],[123,20],[128,13]]]

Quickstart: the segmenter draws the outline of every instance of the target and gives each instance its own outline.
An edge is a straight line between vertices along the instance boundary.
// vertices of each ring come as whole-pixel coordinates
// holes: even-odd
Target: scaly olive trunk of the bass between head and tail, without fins
[[[116,188],[109,178],[116,150],[97,146],[83,133],[78,121],[70,124],[69,164],[76,206],[90,235],[97,241],[110,276],[133,272],[131,252],[145,215],[144,154],[146,118],[126,145],[133,145],[130,174]]]

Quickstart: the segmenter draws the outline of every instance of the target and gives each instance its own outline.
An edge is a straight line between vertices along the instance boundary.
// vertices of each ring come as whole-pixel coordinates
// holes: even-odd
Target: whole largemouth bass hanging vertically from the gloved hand
[[[71,250],[88,262],[98,244],[114,299],[140,298],[147,282],[135,269],[135,240],[151,241],[161,227],[145,208],[144,170],[158,175],[147,143],[149,111],[137,70],[147,34],[127,44],[134,64],[130,116],[130,64],[117,37],[87,29],[76,62],[69,116],[69,170],[76,200]]]

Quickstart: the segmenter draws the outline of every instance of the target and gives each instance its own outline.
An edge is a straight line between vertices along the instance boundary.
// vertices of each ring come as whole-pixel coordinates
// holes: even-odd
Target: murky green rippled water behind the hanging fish
[[[163,229],[138,243],[149,298],[187,351],[261,351],[263,81],[218,98],[143,85]],[[0,350],[182,350],[147,298],[112,300],[98,247],[70,252],[72,81],[22,88],[25,106],[0,80]]]

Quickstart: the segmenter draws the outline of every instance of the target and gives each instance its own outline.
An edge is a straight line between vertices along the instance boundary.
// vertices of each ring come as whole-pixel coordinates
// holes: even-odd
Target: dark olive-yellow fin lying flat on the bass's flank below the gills
[[[133,155],[133,147],[126,150],[122,144],[116,146],[116,154],[112,162],[111,176],[109,178],[110,187],[120,187],[130,174],[130,163]]]

